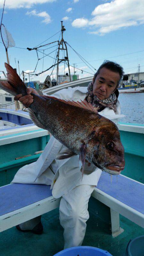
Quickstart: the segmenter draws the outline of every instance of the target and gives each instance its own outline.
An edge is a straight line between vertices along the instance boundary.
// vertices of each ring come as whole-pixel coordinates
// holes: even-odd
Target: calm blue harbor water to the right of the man
[[[120,93],[118,100],[121,114],[125,117],[119,121],[124,123],[144,124],[144,93]]]

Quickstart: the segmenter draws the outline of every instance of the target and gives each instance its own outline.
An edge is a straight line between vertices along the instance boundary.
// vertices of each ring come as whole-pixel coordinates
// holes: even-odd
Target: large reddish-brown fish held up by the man
[[[7,63],[7,81],[0,87],[12,95],[27,95],[26,86]],[[119,130],[111,120],[101,116],[87,101],[69,101],[31,93],[33,102],[28,108],[34,124],[48,130],[67,149],[58,159],[79,155],[104,172],[118,175],[124,169],[124,147]]]

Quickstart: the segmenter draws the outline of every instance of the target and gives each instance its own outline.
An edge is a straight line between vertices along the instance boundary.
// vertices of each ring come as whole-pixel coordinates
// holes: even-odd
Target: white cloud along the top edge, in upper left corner
[[[30,8],[36,4],[52,3],[56,0],[7,0],[5,1],[5,8]],[[3,8],[4,0],[0,0],[0,8]]]

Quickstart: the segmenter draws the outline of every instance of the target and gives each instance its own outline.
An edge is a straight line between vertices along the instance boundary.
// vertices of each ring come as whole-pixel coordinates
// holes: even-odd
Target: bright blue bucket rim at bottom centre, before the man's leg
[[[91,246],[77,246],[65,249],[53,256],[112,256],[109,252]]]

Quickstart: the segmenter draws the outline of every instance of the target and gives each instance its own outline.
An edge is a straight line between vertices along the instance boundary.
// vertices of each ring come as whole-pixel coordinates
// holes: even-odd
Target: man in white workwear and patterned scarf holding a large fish
[[[104,61],[93,77],[92,83],[86,87],[75,87],[60,90],[53,94],[56,98],[66,100],[87,100],[97,108],[100,115],[112,119],[122,117],[118,98],[118,84],[123,76],[123,68],[111,61]],[[33,102],[30,92],[28,95],[15,96],[25,107]],[[64,248],[79,246],[82,244],[86,221],[89,219],[87,210],[89,198],[97,185],[101,170],[94,165],[85,163],[84,176],[82,178],[81,163],[78,156],[58,160],[65,147],[53,136],[49,140],[44,152],[39,159],[32,164],[23,166],[16,173],[13,183],[34,183],[51,185],[52,195],[61,197],[60,224],[64,228]],[[34,233],[42,233],[41,217],[29,220],[17,226],[20,230],[32,230]]]

